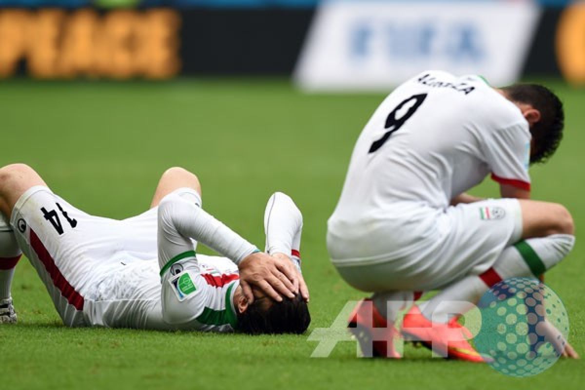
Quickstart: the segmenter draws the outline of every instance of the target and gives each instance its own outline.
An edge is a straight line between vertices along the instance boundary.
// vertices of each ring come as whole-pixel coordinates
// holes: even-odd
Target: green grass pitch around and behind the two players
[[[583,90],[549,83],[566,104],[566,136],[548,165],[532,168],[534,198],[565,204],[577,229],[583,201]],[[282,80],[35,82],[0,84],[0,164],[25,162],[73,205],[126,218],[149,205],[157,178],[196,172],[204,206],[263,246],[271,192],[287,192],[305,216],[304,275],[312,324],[328,327],[349,300],[329,263],[326,220],[338,199],[357,135],[381,95],[304,95]],[[473,192],[495,196],[484,183]],[[579,233],[577,233],[579,236]],[[570,341],[585,356],[585,249],[577,246],[547,282],[570,316]],[[311,358],[307,336],[68,329],[23,259],[13,297],[19,324],[0,326],[1,389],[577,389],[583,361],[559,361],[532,378],[487,365],[443,361],[407,347],[400,361],[356,358],[344,341]]]

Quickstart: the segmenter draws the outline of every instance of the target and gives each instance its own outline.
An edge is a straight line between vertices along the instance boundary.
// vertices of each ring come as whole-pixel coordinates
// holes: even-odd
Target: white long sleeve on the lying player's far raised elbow
[[[266,252],[284,253],[301,270],[302,214],[290,196],[275,192],[264,210]]]

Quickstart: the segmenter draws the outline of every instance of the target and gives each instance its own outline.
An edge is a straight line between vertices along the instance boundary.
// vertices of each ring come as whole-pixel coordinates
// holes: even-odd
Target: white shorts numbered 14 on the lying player
[[[116,264],[143,260],[156,264],[156,208],[125,220],[101,218],[75,208],[49,188],[37,186],[16,202],[11,226],[20,249],[68,326],[99,323],[88,307],[95,311],[93,300],[102,294],[99,282]],[[153,275],[160,286],[157,272]],[[160,295],[157,299],[160,301]]]

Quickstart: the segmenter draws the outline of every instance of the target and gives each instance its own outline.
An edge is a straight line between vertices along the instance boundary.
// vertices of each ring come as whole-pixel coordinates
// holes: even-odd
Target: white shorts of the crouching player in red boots
[[[347,283],[371,292],[442,288],[487,271],[522,234],[517,199],[461,204],[444,212],[421,212],[412,205],[412,213],[378,221],[374,229],[370,225],[361,239],[344,240],[343,234],[328,232],[332,263]],[[404,209],[408,206],[396,211]],[[356,236],[356,229],[348,232]]]

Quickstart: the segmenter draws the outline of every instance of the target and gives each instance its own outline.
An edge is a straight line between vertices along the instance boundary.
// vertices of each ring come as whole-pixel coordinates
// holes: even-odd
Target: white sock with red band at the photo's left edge
[[[11,297],[12,278],[16,263],[22,256],[12,227],[0,214],[0,299]]]

